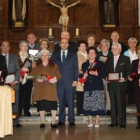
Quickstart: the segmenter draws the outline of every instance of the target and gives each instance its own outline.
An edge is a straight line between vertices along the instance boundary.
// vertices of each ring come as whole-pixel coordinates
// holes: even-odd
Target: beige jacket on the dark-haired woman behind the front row
[[[85,58],[85,56],[83,56],[83,55],[81,54],[80,51],[77,52],[77,58],[78,58],[78,69],[79,69],[79,70],[82,70],[82,64],[83,64],[84,62],[86,62],[87,59]],[[81,85],[80,82],[78,82],[76,91],[83,91],[83,90],[84,90],[84,89],[83,89],[83,86]]]

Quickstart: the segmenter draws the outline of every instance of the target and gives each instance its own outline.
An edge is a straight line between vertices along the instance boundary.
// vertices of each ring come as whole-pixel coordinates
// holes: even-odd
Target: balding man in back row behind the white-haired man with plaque
[[[127,51],[128,50],[128,47],[125,45],[125,44],[123,44],[122,42],[119,42],[119,33],[117,32],[117,31],[113,31],[112,33],[111,33],[111,39],[112,39],[112,42],[110,43],[110,51],[112,50],[112,45],[113,44],[117,44],[117,43],[120,43],[121,44],[121,46],[122,46],[122,49],[121,49],[121,54],[124,54],[124,52],[125,51]]]

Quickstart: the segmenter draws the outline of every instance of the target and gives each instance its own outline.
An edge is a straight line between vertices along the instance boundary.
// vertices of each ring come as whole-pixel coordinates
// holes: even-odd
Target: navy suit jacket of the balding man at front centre
[[[68,51],[64,63],[61,62],[61,52],[53,53],[52,59],[58,65],[61,79],[58,81],[58,86],[65,86],[67,89],[72,88],[72,82],[78,81],[78,60],[77,54]]]

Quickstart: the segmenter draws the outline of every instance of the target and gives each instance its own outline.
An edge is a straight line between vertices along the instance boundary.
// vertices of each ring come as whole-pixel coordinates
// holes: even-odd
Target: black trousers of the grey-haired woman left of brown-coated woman
[[[22,113],[22,109],[24,110],[24,112],[29,111],[30,109],[32,86],[33,86],[33,82],[31,80],[27,80],[27,82],[24,85],[20,83],[20,90],[19,90],[20,113]]]

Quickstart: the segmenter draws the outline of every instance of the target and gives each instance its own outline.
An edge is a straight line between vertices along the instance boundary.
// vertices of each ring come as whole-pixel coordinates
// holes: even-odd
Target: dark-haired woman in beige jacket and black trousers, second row
[[[86,41],[81,40],[78,42],[77,58],[78,58],[79,74],[82,74],[82,71],[81,71],[82,64],[87,61],[86,48],[87,48]],[[76,95],[77,95],[77,115],[80,115],[80,114],[82,114],[83,99],[84,99],[84,89],[80,82],[78,82],[78,84],[77,84]]]

